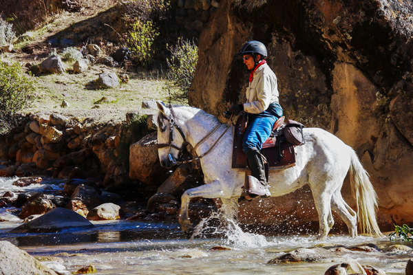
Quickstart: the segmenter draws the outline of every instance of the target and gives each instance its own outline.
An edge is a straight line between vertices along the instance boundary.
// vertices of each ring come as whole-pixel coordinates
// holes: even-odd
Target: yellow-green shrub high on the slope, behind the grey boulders
[[[131,24],[131,30],[127,39],[129,50],[131,50],[134,61],[149,65],[153,62],[153,41],[159,35],[152,21],[137,20]]]

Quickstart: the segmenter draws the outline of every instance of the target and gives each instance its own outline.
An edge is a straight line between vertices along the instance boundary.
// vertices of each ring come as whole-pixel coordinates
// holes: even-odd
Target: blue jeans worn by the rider
[[[251,148],[261,150],[262,144],[270,136],[274,123],[282,113],[282,108],[277,103],[270,104],[262,113],[248,113],[248,126],[242,138],[242,151],[246,152]]]

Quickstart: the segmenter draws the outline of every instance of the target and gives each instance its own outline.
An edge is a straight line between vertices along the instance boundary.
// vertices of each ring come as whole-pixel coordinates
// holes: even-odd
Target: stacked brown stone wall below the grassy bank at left
[[[55,113],[26,115],[20,126],[0,137],[0,176],[87,178],[110,172],[116,177],[108,176],[102,184],[119,184],[127,175],[118,155],[121,133],[122,124],[80,122]]]

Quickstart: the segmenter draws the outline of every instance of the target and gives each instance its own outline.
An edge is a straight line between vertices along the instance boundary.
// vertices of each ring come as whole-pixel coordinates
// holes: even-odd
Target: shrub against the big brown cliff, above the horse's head
[[[171,58],[167,58],[169,98],[178,102],[186,101],[198,62],[198,46],[193,41],[178,39],[176,45],[167,45],[167,48],[171,52]]]

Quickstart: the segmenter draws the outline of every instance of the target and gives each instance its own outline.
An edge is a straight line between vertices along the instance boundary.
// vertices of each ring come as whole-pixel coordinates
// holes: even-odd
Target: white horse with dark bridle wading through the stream
[[[161,165],[176,164],[185,142],[201,156],[205,184],[186,190],[181,197],[179,222],[185,232],[192,227],[188,217],[191,198],[220,198],[223,204],[234,205],[242,193],[245,169],[231,168],[233,126],[221,124],[213,115],[194,107],[157,105]],[[226,131],[228,127],[230,131]],[[334,224],[331,209],[346,223],[350,236],[357,236],[357,216],[363,232],[382,236],[375,216],[377,195],[354,150],[323,129],[304,128],[304,140],[304,145],[295,148],[295,166],[269,170],[271,196],[286,195],[308,184],[318,212],[319,239],[324,239]],[[357,214],[341,197],[348,170]]]

